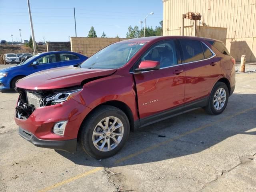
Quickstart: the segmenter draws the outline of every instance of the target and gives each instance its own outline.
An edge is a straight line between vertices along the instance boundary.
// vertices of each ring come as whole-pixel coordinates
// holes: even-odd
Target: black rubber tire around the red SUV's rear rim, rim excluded
[[[219,89],[219,88],[224,88],[224,90],[226,91],[226,101],[225,101],[225,104],[224,106],[220,109],[220,110],[217,110],[215,107],[214,107],[214,103],[213,103],[213,100],[214,100],[214,95],[216,93],[216,91]],[[212,89],[212,92],[211,92],[211,95],[210,95],[210,98],[209,98],[209,102],[208,102],[208,105],[210,105],[210,109],[212,111],[213,114],[220,114],[222,113],[227,104],[228,104],[228,96],[229,96],[229,91],[228,91],[228,87],[226,86],[226,84],[224,84],[223,82],[218,82],[216,83],[216,85],[214,86],[214,88]]]

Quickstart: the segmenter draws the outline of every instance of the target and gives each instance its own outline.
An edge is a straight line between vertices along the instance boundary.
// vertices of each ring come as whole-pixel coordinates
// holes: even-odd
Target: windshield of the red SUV
[[[100,50],[81,64],[82,68],[113,69],[124,66],[147,42],[116,43]]]

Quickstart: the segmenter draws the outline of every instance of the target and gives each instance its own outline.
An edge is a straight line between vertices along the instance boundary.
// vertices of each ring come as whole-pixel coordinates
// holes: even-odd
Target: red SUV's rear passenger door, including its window
[[[220,58],[198,40],[180,40],[186,71],[185,103],[206,98],[221,73]]]

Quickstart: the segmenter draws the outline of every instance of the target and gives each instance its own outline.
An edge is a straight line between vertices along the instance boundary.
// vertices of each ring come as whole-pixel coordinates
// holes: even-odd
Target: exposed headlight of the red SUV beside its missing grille
[[[80,93],[82,89],[66,91],[66,92],[56,92],[53,96],[45,98],[46,102],[52,102],[52,104],[62,103],[64,101],[72,99],[74,96]]]

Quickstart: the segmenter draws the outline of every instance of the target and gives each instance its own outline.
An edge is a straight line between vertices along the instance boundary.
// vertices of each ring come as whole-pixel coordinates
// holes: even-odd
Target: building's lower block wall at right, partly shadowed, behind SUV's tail
[[[227,39],[226,47],[237,62],[246,55],[246,62],[256,62],[256,37]]]

